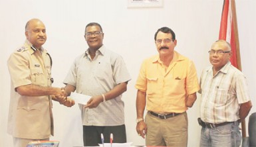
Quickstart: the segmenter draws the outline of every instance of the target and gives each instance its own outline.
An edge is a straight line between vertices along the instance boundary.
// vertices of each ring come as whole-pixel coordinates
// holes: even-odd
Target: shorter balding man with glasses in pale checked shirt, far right
[[[252,104],[245,75],[231,65],[231,46],[217,40],[209,50],[212,66],[200,78],[200,146],[240,146],[239,122]]]

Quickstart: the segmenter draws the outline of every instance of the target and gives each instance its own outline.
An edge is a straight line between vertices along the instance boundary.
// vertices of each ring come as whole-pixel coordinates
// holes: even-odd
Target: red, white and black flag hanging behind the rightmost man
[[[226,40],[231,45],[233,56],[230,62],[241,70],[241,58],[239,51],[239,38],[237,30],[237,15],[235,11],[235,0],[224,0],[219,28],[219,39]]]

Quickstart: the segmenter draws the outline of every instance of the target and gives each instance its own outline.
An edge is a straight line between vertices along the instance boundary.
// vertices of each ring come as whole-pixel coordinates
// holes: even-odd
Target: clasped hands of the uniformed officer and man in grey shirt
[[[67,97],[68,93],[66,93],[65,89],[62,88],[54,88],[55,94],[51,95],[52,99],[55,101],[59,101],[61,105],[66,107],[72,107],[74,105],[74,100],[70,97]]]

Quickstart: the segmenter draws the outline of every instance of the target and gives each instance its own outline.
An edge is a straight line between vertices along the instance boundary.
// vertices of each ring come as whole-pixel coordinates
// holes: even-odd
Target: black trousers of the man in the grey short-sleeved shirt
[[[104,136],[104,143],[110,143],[110,134],[113,134],[113,143],[126,142],[125,125],[120,126],[83,126],[84,146],[98,146],[102,144],[100,134]]]

